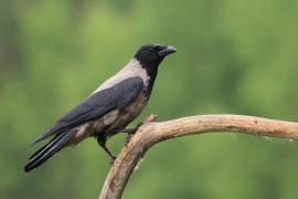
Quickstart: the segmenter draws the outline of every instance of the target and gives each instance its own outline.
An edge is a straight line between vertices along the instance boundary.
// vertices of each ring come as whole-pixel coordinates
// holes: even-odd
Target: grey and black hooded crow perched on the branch
[[[61,149],[75,146],[87,137],[96,138],[98,145],[115,160],[106,142],[118,133],[132,134],[126,128],[145,108],[150,98],[158,69],[163,59],[177,49],[162,44],[145,44],[114,76],[102,83],[88,97],[56,121],[31,146],[51,138],[35,151],[24,166],[29,172],[44,164]]]

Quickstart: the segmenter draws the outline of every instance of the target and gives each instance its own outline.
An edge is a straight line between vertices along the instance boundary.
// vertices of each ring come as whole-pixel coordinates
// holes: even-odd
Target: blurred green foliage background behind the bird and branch
[[[178,53],[146,111],[159,121],[245,114],[298,121],[298,1],[1,0],[0,198],[97,198],[109,158],[87,139],[25,174],[29,147],[145,43]],[[116,154],[125,136],[108,142]],[[296,199],[298,143],[205,134],[151,148],[129,199]]]

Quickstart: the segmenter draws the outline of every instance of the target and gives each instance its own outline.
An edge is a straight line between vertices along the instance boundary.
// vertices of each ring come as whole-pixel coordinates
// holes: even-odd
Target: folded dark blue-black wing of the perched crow
[[[97,119],[113,109],[120,109],[127,106],[140,94],[142,88],[142,80],[136,76],[126,78],[110,88],[91,95],[86,101],[61,117],[52,128],[41,135],[31,145],[86,122]]]

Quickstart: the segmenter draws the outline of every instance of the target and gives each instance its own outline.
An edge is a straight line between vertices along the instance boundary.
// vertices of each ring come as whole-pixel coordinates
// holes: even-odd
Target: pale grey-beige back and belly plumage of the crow
[[[141,113],[150,96],[150,93],[146,91],[150,77],[136,59],[132,59],[120,72],[99,85],[98,88],[93,92],[93,94],[113,88],[115,85],[127,78],[139,78],[140,82],[138,84],[142,85],[134,102],[129,103],[123,109],[114,109],[107,113],[104,117],[77,127],[77,133],[70,142],[71,145],[77,144],[89,136],[96,136],[96,134],[107,133],[107,136],[105,137],[111,137],[115,129],[125,128]],[[111,134],[109,134],[110,132]]]

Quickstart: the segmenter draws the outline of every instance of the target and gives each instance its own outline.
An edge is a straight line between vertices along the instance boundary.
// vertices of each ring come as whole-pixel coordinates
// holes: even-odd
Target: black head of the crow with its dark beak
[[[169,45],[147,44],[142,45],[135,54],[135,59],[145,69],[158,69],[160,62],[169,54],[175,53],[175,49]]]

